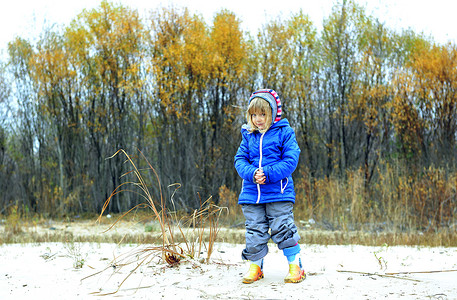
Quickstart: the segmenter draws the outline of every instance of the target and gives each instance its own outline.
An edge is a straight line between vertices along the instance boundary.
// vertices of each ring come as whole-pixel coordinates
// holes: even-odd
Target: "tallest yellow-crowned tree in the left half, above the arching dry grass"
[[[119,158],[107,160],[118,149],[131,152],[137,133],[144,130],[142,93],[142,24],[138,12],[106,1],[100,7],[83,11],[66,31],[68,59],[75,66],[80,90],[75,97],[82,105],[82,122],[87,132],[87,156],[91,161],[89,182],[97,208],[124,173]],[[136,114],[135,112],[141,112]],[[138,128],[132,131],[132,128]],[[131,207],[128,195],[112,201],[115,211]]]

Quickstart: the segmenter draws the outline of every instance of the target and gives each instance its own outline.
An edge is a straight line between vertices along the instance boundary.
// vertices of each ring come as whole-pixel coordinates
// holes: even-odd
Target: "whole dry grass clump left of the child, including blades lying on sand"
[[[156,170],[148,162],[146,157],[139,151],[140,157],[145,163],[145,167],[138,167],[131,157],[124,151],[118,150],[112,157],[117,155],[124,155],[126,163],[131,166],[131,170],[126,172],[123,177],[126,181],[121,183],[114,189],[110,197],[105,201],[103,209],[98,217],[97,222],[100,224],[104,219],[105,210],[108,208],[111,200],[119,193],[130,192],[143,199],[144,202],[132,207],[129,211],[121,215],[110,227],[105,231],[109,232],[119,224],[119,222],[131,213],[139,209],[146,209],[151,215],[149,219],[154,220],[157,225],[158,236],[155,242],[138,242],[142,247],[121,255],[115,258],[106,269],[96,272],[95,274],[86,278],[98,275],[105,271],[112,271],[114,273],[120,272],[124,267],[133,267],[128,271],[128,275],[118,285],[116,291],[108,294],[116,294],[124,282],[142,265],[152,262],[155,258],[159,257],[163,262],[170,266],[179,264],[182,260],[198,259],[201,254],[206,253],[206,262],[209,262],[213,252],[213,246],[219,233],[219,218],[222,214],[223,208],[215,205],[212,202],[212,197],[205,201],[200,201],[200,207],[195,209],[188,217],[178,219],[178,214],[173,210],[175,207],[173,202],[173,195],[171,196],[172,207],[167,207],[167,201],[163,197],[162,183]],[[111,158],[112,158],[111,157]],[[152,173],[153,178],[156,180],[155,186],[145,180],[144,174]],[[181,184],[175,183],[168,187],[179,189]],[[154,190],[155,187],[155,190]],[[158,199],[154,197],[158,195]],[[153,227],[151,226],[151,229]],[[154,236],[151,234],[151,236]],[[128,238],[128,233],[124,234],[119,243]],[[204,250],[204,251],[203,251]],[[110,266],[116,266],[111,268]],[[85,278],[85,279],[86,279]],[[97,295],[102,295],[96,293]],[[108,295],[103,294],[103,295]]]

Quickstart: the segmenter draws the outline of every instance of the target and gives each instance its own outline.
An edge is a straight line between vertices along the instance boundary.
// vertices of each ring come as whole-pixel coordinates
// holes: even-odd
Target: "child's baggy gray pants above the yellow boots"
[[[294,223],[292,202],[244,204],[241,209],[246,218],[246,248],[241,254],[244,260],[265,257],[270,238],[280,250],[298,243],[300,236]]]

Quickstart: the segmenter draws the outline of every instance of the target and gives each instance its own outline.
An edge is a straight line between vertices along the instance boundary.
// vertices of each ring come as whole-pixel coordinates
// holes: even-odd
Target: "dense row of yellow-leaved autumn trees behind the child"
[[[237,223],[233,157],[247,99],[268,87],[302,150],[300,224],[455,232],[455,44],[397,32],[350,0],[320,29],[302,11],[240,28],[228,10],[207,24],[186,8],[140,17],[104,1],[36,42],[11,41],[0,62],[0,214],[100,213],[131,169],[108,159],[124,149],[155,168],[168,207],[186,213],[212,197]],[[107,212],[140,202],[119,193]]]

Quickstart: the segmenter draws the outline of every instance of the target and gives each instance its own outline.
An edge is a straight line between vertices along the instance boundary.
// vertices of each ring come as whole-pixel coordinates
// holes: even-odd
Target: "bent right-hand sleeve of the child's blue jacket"
[[[266,176],[265,183],[274,183],[287,178],[297,168],[300,148],[295,138],[295,132],[291,127],[284,130],[282,140],[282,159],[278,163],[263,168]]]

